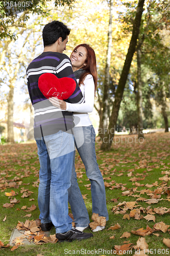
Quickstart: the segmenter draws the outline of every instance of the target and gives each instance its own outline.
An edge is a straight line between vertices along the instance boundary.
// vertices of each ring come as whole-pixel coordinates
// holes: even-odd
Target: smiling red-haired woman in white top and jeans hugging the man
[[[79,83],[85,102],[71,104],[54,97],[49,100],[62,110],[74,112],[75,144],[86,169],[86,175],[91,183],[92,212],[109,219],[106,207],[106,193],[102,174],[95,155],[95,132],[89,119],[92,112],[94,94],[97,86],[96,58],[94,50],[87,44],[78,45],[70,56],[72,70]],[[83,231],[88,227],[89,216],[81,195],[75,172],[75,161],[72,166],[71,186],[68,189],[68,202],[75,219],[76,229]],[[98,226],[93,231],[105,227]]]

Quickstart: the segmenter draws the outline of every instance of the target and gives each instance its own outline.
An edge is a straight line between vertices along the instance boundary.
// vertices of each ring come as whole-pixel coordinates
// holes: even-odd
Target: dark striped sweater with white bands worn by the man
[[[38,88],[38,79],[43,73],[55,74],[58,78],[70,77],[76,81],[70,59],[63,53],[43,52],[27,68],[27,84],[34,107],[34,137],[40,138],[68,131],[74,126],[72,112],[61,111],[43,96]],[[65,100],[69,103],[82,103],[83,95],[76,81],[75,92]]]

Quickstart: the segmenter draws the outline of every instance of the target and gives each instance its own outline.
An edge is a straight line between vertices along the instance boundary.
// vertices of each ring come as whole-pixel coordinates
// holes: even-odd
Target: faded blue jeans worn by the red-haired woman
[[[106,217],[105,184],[95,155],[95,131],[92,125],[74,127],[75,143],[79,155],[86,169],[86,175],[91,183],[92,212]],[[74,158],[75,159],[75,158]],[[71,186],[68,189],[68,202],[71,206],[76,227],[86,227],[90,223],[87,208],[85,206],[75,171],[75,161],[72,166]]]

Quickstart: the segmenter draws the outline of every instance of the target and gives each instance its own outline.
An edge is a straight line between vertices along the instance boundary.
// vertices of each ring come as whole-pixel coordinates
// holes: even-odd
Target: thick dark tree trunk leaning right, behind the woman
[[[137,38],[139,35],[141,16],[142,16],[142,12],[143,12],[143,5],[144,5],[144,0],[139,0],[137,10],[136,10],[136,16],[135,16],[135,20],[134,20],[134,24],[133,24],[133,32],[132,32],[132,37],[131,37],[128,53],[126,56],[122,74],[120,75],[117,90],[115,93],[115,100],[113,103],[112,113],[110,116],[108,135],[107,135],[107,137],[104,138],[105,140],[103,139],[103,143],[101,146],[101,150],[104,150],[104,151],[110,150],[111,144],[113,142],[118,112],[119,112],[119,108],[120,108],[120,103],[122,101],[125,84],[127,81],[133,54],[135,52],[135,48],[136,48],[136,44],[137,44]]]

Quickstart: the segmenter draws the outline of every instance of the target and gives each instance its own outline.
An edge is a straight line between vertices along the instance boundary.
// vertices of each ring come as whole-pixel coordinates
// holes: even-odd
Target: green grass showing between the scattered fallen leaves
[[[106,198],[107,198],[107,208],[109,212],[109,221],[106,224],[106,228],[103,231],[93,233],[93,238],[84,240],[84,241],[74,241],[72,243],[57,243],[57,244],[43,244],[43,245],[25,245],[19,246],[18,249],[11,251],[12,247],[9,248],[1,248],[0,255],[22,255],[22,256],[36,256],[37,254],[42,254],[44,256],[52,256],[52,255],[114,255],[111,250],[114,250],[115,245],[123,245],[124,241],[130,241],[133,245],[136,245],[136,242],[139,236],[131,233],[131,230],[137,230],[139,228],[146,228],[149,225],[151,228],[155,223],[164,222],[166,225],[170,225],[169,214],[164,214],[159,216],[155,214],[156,220],[155,223],[153,221],[147,221],[145,219],[135,220],[134,218],[130,218],[130,220],[123,219],[124,214],[114,214],[112,208],[116,206],[120,202],[130,202],[136,201],[138,197],[133,197],[133,195],[139,195],[139,191],[142,189],[150,189],[154,191],[158,187],[153,186],[151,188],[145,186],[136,186],[135,181],[129,181],[130,178],[144,178],[143,180],[137,181],[140,184],[146,185],[152,184],[155,181],[158,181],[159,187],[163,186],[163,192],[161,194],[162,199],[167,199],[166,190],[170,190],[169,181],[161,181],[160,177],[165,175],[161,174],[162,171],[168,171],[170,169],[170,158],[169,158],[169,134],[159,133],[159,134],[147,134],[145,135],[145,141],[143,143],[136,143],[134,140],[134,135],[125,136],[128,140],[129,137],[133,138],[133,143],[128,143],[125,138],[122,140],[120,138],[120,142],[116,143],[118,139],[113,143],[112,149],[110,152],[101,152],[100,144],[96,143],[96,155],[98,159],[98,163],[100,169],[102,171],[103,178],[111,177],[110,180],[104,180],[106,182],[115,181],[113,186],[116,183],[124,184],[117,186],[111,190],[110,187],[106,187]],[[118,138],[118,137],[116,137]],[[129,140],[131,141],[131,140]],[[39,218],[39,209],[37,202],[38,195],[38,187],[33,186],[33,184],[37,184],[38,181],[38,170],[39,170],[39,161],[37,157],[37,147],[35,143],[27,143],[27,144],[13,144],[13,145],[1,145],[0,146],[0,189],[1,189],[1,211],[0,211],[0,241],[2,241],[5,245],[9,243],[9,239],[11,233],[18,221],[25,222],[27,219],[35,220]],[[103,165],[105,164],[105,165]],[[151,166],[151,171],[148,169]],[[158,168],[155,168],[157,167]],[[81,163],[80,157],[78,154],[76,155],[76,167],[78,172],[85,172],[85,169]],[[132,170],[133,169],[133,170]],[[114,170],[114,173],[113,173]],[[132,177],[128,177],[128,173],[132,170]],[[123,173],[122,176],[117,176]],[[113,174],[113,175],[112,175]],[[138,175],[142,174],[142,176]],[[145,176],[145,177],[144,177]],[[168,175],[169,177],[169,175]],[[84,185],[89,184],[87,181],[87,177],[83,174],[83,178],[78,179],[78,181],[82,180],[82,183],[79,183],[82,194],[88,194],[85,199],[85,204],[89,212],[89,216],[92,215],[92,204],[91,204],[91,191],[86,189]],[[10,182],[16,182],[16,187],[8,187]],[[35,183],[33,183],[35,182]],[[125,185],[126,184],[126,185]],[[137,188],[136,188],[137,187]],[[21,189],[28,189],[32,191],[31,194],[27,198],[21,198]],[[134,191],[136,188],[136,192]],[[121,190],[124,189],[124,190]],[[123,196],[123,191],[127,191],[131,189],[133,194],[131,196]],[[15,204],[12,208],[4,208],[3,205],[5,203],[10,203],[10,198],[5,196],[6,192],[10,192],[14,190],[15,193],[18,193],[14,196],[20,202]],[[14,197],[11,197],[14,199]],[[150,199],[150,196],[147,194],[141,195],[146,199]],[[118,198],[118,199],[117,199]],[[29,201],[29,199],[34,199],[34,201]],[[111,201],[111,199],[117,199],[117,202]],[[147,204],[142,201],[137,201],[138,204],[143,207],[154,209],[155,207],[167,207],[169,208],[169,201],[162,200],[156,204]],[[31,212],[26,212],[21,209],[22,206],[31,207],[31,205],[36,205],[36,209]],[[138,206],[137,208],[139,208]],[[31,213],[32,216],[30,218],[24,217],[26,214]],[[130,213],[130,209],[127,210],[126,214]],[[143,216],[146,216],[146,213],[142,213]],[[6,221],[4,222],[4,218],[7,216]],[[121,228],[117,230],[108,230],[110,226],[114,226],[114,224],[118,223]],[[88,232],[91,232],[90,229],[87,229]],[[131,233],[130,238],[122,238],[120,236],[124,232]],[[51,230],[51,233],[55,233],[55,228]],[[159,233],[159,237],[151,234],[150,236],[146,236],[145,240],[149,245],[149,249],[154,249],[154,253],[152,255],[166,255],[166,249],[168,247],[163,244],[163,238],[169,238],[169,232],[166,231],[163,233],[162,231],[157,231]],[[115,236],[114,239],[109,239],[111,236]],[[99,250],[100,249],[100,250]],[[161,249],[161,251],[158,251]],[[163,251],[165,249],[165,253]],[[96,252],[95,252],[96,250]],[[104,250],[104,251],[103,251]],[[79,252],[80,251],[80,252]],[[109,252],[110,251],[110,252]],[[159,253],[161,252],[161,253]],[[133,255],[135,250],[132,250]],[[148,253],[147,253],[148,254]],[[128,253],[124,253],[124,255],[129,255]],[[136,254],[137,255],[137,254]]]

